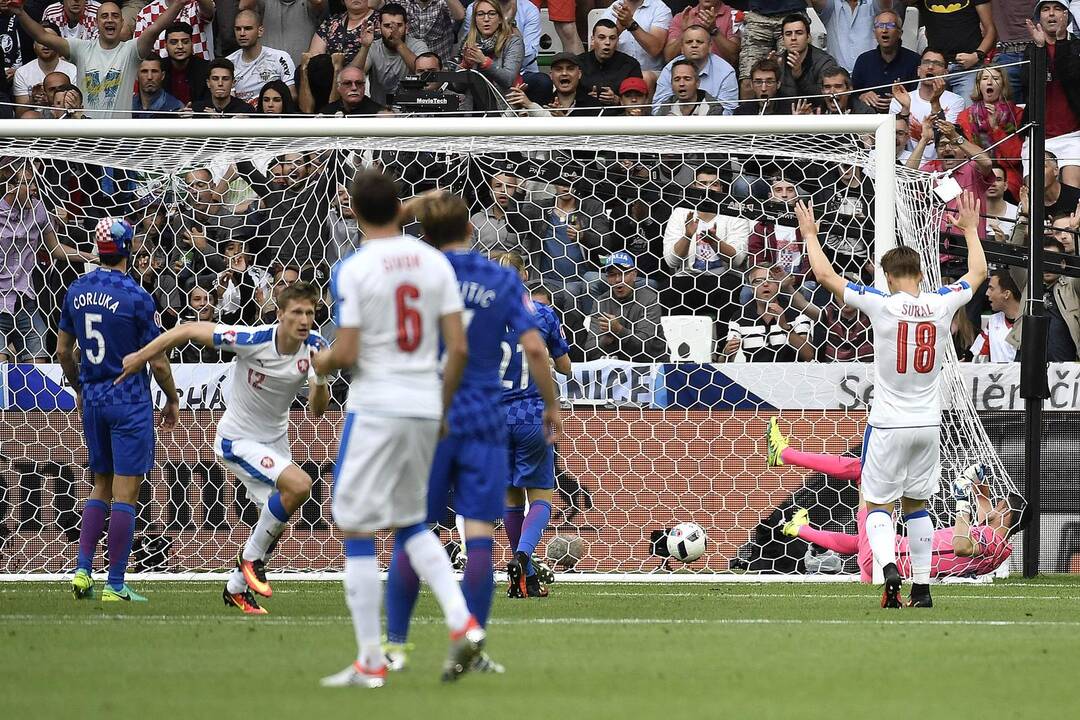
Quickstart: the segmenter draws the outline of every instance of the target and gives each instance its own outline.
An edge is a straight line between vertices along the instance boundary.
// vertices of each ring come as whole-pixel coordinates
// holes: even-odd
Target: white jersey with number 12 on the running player
[[[237,367],[217,434],[230,440],[272,443],[288,432],[288,411],[308,382],[311,354],[320,343],[315,332],[292,355],[276,344],[278,325],[218,325],[214,347],[234,353]]]

